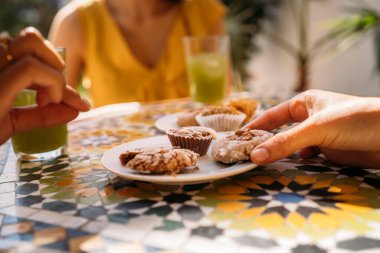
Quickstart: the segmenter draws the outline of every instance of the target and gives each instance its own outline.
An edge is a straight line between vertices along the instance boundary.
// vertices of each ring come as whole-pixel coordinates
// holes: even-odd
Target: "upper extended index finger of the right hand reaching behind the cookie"
[[[283,102],[260,115],[245,127],[271,131],[289,122],[303,121],[308,117],[308,111],[301,96]]]

